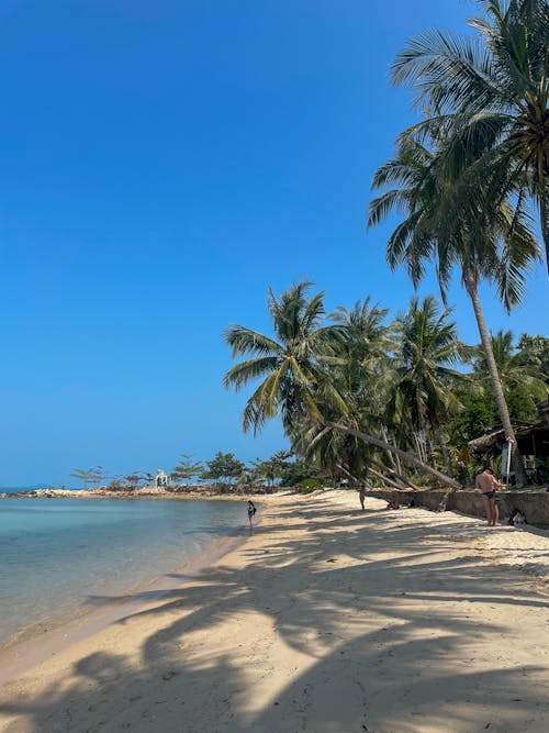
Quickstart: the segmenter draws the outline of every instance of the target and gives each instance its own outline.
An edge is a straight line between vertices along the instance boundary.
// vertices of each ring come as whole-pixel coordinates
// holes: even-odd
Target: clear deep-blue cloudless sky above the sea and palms
[[[240,431],[222,332],[266,291],[406,307],[365,232],[372,171],[415,120],[389,64],[461,0],[3,0],[0,485],[267,456]],[[436,293],[430,278],[421,295]],[[549,335],[544,267],[490,326]],[[459,286],[461,338],[478,342]]]

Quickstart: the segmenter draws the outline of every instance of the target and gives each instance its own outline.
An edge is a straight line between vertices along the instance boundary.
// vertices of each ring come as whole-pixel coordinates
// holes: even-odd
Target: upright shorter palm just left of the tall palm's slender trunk
[[[411,300],[407,312],[395,321],[400,340],[391,415],[400,407],[410,418],[410,425],[422,430],[430,425],[440,445],[449,476],[453,476],[450,454],[440,427],[440,418],[449,409],[459,407],[455,397],[456,382],[462,374],[449,365],[462,360],[463,349],[458,340],[455,322],[448,322],[451,309],[440,312],[433,296],[419,303]]]

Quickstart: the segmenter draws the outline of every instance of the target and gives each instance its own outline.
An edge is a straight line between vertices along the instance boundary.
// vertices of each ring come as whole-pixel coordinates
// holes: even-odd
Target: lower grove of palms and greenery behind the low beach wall
[[[242,325],[225,333],[233,356],[247,357],[225,386],[257,382],[243,430],[257,433],[280,414],[291,449],[333,482],[396,476],[410,485],[402,453],[463,482],[468,442],[498,419],[483,347],[459,340],[451,309],[433,296],[413,297],[389,320],[369,297],[326,314],[324,293],[310,290],[269,290],[273,337]],[[500,331],[491,346],[511,414],[535,422],[536,401],[549,395],[549,338],[523,334],[515,345]]]

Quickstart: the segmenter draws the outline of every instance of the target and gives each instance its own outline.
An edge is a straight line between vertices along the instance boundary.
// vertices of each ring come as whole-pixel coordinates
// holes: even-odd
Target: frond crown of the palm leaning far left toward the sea
[[[307,299],[311,285],[296,282],[280,299],[269,288],[267,304],[276,338],[237,324],[224,334],[233,358],[251,357],[225,374],[224,386],[238,390],[264,377],[244,409],[244,432],[253,427],[257,433],[279,412],[287,433],[296,422],[321,417],[313,393],[326,389],[318,358],[329,351],[330,332],[321,325],[324,293]]]

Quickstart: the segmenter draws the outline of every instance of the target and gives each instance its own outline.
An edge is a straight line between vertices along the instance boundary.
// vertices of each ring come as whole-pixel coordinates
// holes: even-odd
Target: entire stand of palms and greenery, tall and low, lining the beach
[[[389,267],[404,266],[417,287],[434,266],[442,307],[414,299],[386,326],[366,298],[325,324],[323,293],[309,299],[301,282],[280,298],[269,290],[273,338],[240,325],[225,334],[244,358],[225,386],[258,381],[243,429],[280,414],[292,449],[350,479],[377,470],[373,460],[403,477],[405,460],[457,487],[456,452],[464,457],[466,438],[500,422],[517,484],[526,482],[512,418],[534,417],[534,400],[547,396],[534,342],[544,359],[547,344],[525,336],[515,349],[509,333],[491,334],[479,286],[491,284],[507,312],[522,301],[542,259],[536,219],[549,255],[549,4],[477,4],[474,35],[428,31],[396,56],[392,81],[411,87],[421,119],[376,171],[368,209],[368,229],[397,218]],[[472,349],[449,321],[456,274],[479,329]]]

